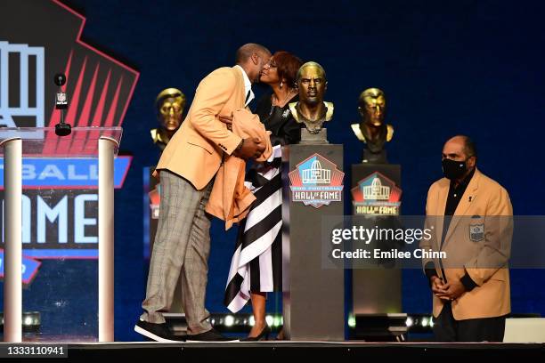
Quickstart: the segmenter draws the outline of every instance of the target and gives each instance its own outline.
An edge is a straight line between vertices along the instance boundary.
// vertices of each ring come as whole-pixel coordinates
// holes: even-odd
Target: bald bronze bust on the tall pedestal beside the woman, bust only
[[[304,123],[301,141],[326,141],[322,128],[324,122],[333,117],[333,103],[323,101],[328,86],[325,70],[320,64],[309,61],[297,71],[299,101],[289,104],[289,110],[298,123]]]

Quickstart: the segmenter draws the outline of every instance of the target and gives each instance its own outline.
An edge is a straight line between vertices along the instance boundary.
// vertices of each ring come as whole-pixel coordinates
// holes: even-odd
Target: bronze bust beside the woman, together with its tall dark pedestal
[[[343,214],[343,145],[330,144],[324,122],[333,103],[321,65],[297,72],[299,101],[289,109],[301,128],[299,144],[282,149],[282,269],[284,334],[291,340],[345,340],[344,269],[322,266],[323,217]]]

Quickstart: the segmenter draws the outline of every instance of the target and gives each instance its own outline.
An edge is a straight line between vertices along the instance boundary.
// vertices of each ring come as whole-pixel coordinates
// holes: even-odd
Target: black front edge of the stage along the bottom
[[[0,349],[12,344],[1,343]],[[27,345],[27,343],[25,343]],[[38,345],[38,344],[36,344]],[[274,361],[274,359],[301,358],[305,361],[370,361],[385,359],[418,362],[437,362],[437,359],[470,359],[490,361],[543,361],[543,343],[329,343],[329,342],[256,342],[256,343],[85,343],[68,344],[68,359],[243,359]],[[525,360],[533,359],[533,360]],[[2,361],[10,359],[2,359]],[[21,357],[22,360],[22,357]],[[26,359],[28,360],[28,358]],[[93,361],[93,360],[92,360]],[[96,360],[94,360],[96,361]],[[109,360],[111,361],[111,360]],[[189,361],[189,360],[173,360]],[[198,360],[195,360],[198,361]],[[279,360],[277,360],[279,361]]]

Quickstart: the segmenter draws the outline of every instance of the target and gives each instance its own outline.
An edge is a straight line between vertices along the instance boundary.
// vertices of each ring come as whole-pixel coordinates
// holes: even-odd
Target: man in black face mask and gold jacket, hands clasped
[[[427,228],[420,248],[445,259],[423,259],[434,293],[434,333],[440,342],[501,342],[510,312],[508,256],[513,209],[508,192],[476,169],[467,136],[443,146],[444,178],[427,193]]]

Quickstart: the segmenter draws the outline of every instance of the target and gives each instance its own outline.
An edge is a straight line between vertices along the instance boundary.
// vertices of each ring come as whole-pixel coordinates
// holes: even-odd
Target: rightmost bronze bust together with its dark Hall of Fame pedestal
[[[358,112],[361,121],[351,126],[366,147],[362,163],[352,165],[353,214],[363,216],[361,221],[370,225],[391,228],[400,214],[401,165],[389,164],[384,149],[394,135],[394,127],[384,120],[385,94],[378,88],[366,89],[360,94]],[[377,189],[382,192],[373,192]],[[354,220],[359,221],[357,217]],[[387,247],[378,240],[370,244]],[[371,268],[353,266],[354,315],[401,312],[401,270],[388,263]]]

